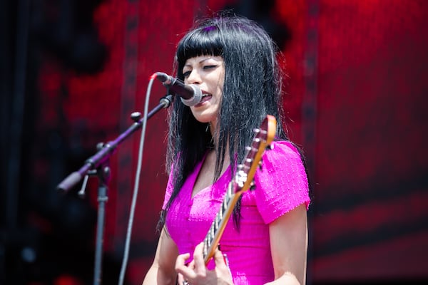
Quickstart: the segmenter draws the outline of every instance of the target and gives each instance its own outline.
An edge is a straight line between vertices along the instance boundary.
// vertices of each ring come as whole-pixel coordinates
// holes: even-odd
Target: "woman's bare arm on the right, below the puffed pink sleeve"
[[[307,263],[307,214],[305,204],[269,225],[275,281],[267,284],[305,284]]]

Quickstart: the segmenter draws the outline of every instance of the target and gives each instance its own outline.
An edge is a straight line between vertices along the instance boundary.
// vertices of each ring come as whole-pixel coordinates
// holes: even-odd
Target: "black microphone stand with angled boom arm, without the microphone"
[[[169,93],[169,90],[168,90]],[[173,95],[165,95],[161,98],[160,103],[153,108],[147,114],[147,120],[151,118],[154,114],[158,113],[159,110],[168,108],[173,102]],[[84,187],[86,187],[86,181],[89,175],[96,175],[98,177],[98,222],[96,228],[96,252],[95,252],[95,266],[94,266],[94,276],[93,284],[101,284],[101,266],[102,266],[102,255],[103,255],[103,233],[105,226],[105,215],[106,215],[106,202],[108,199],[108,181],[110,180],[110,166],[109,158],[113,154],[113,151],[116,150],[123,140],[128,138],[136,130],[141,128],[145,118],[141,118],[141,113],[132,113],[131,118],[135,123],[131,125],[127,130],[125,130],[121,135],[119,135],[116,140],[108,142],[106,144],[98,144],[98,152],[95,155],[88,158],[85,161],[85,164],[76,172],[72,172],[68,177],[66,177],[56,188],[61,192],[67,192],[71,190],[78,182],[81,181],[82,177],[85,177],[83,181],[82,190],[83,193]]]

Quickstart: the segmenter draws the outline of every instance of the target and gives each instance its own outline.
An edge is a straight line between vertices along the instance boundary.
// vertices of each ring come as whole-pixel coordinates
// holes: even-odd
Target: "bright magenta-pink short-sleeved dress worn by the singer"
[[[272,142],[272,148],[265,151],[263,168],[255,173],[255,190],[243,193],[239,231],[230,217],[220,239],[235,285],[265,284],[274,279],[268,224],[298,205],[305,203],[308,207],[310,203],[305,168],[295,147],[280,141]],[[202,162],[198,163],[185,180],[166,217],[166,227],[178,251],[190,253],[190,257],[205,238],[231,180],[228,169],[218,181],[192,198],[201,165]],[[172,190],[169,181],[164,208]],[[213,268],[213,261],[208,268]]]

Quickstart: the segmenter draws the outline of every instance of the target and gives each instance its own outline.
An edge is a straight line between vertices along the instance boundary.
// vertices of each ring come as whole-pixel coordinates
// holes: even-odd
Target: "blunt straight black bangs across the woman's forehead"
[[[203,26],[188,33],[178,43],[177,77],[183,80],[185,61],[196,56],[223,56],[223,43],[217,26]]]

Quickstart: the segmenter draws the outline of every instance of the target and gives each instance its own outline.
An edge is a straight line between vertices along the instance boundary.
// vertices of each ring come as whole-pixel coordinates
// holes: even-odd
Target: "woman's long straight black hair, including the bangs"
[[[166,163],[168,172],[173,166],[174,189],[158,226],[163,226],[170,204],[209,148],[216,150],[217,180],[225,155],[229,156],[230,170],[234,172],[236,162],[245,156],[245,146],[253,139],[253,129],[258,128],[266,115],[277,119],[277,139],[287,140],[282,128],[283,73],[277,61],[277,46],[266,31],[243,16],[221,15],[197,21],[178,43],[177,77],[184,79],[183,66],[188,58],[207,55],[221,56],[225,66],[218,133],[215,134],[218,140],[213,145],[213,138],[206,131],[207,123],[198,122],[189,107],[175,100],[169,114]]]

